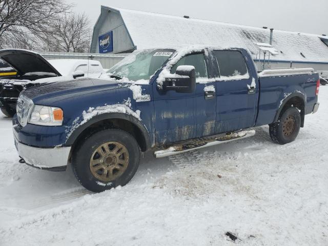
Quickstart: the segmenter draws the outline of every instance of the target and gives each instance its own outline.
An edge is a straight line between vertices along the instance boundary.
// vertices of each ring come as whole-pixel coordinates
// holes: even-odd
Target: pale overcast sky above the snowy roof
[[[126,8],[218,22],[328,35],[328,0],[64,0],[85,12],[93,27],[100,6]]]

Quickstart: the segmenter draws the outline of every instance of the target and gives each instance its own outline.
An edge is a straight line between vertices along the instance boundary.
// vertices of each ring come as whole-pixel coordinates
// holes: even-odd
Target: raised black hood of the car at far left
[[[19,49],[0,50],[0,58],[17,70],[17,75],[61,76],[61,74],[40,54]]]

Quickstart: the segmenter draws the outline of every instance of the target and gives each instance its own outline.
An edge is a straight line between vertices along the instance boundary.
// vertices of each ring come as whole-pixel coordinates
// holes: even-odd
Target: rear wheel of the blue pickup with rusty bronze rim
[[[295,140],[301,127],[301,115],[297,108],[290,107],[283,111],[278,122],[269,125],[272,141],[284,145]]]

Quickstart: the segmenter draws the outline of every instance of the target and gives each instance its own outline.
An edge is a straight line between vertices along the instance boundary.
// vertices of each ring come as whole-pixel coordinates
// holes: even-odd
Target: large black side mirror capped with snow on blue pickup
[[[181,93],[192,93],[196,87],[196,72],[194,66],[179,66],[172,77],[165,78],[163,91],[174,90]]]

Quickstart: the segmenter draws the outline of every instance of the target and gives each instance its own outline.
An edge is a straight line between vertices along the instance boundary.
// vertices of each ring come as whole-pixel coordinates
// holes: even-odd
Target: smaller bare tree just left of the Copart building
[[[52,38],[57,48],[65,52],[88,52],[90,42],[89,18],[83,14],[65,14],[55,23]]]

